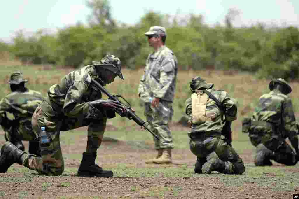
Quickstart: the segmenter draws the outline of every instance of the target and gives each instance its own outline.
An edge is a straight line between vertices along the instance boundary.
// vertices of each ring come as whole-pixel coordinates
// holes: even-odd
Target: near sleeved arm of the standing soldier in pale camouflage
[[[164,98],[176,78],[176,61],[173,55],[167,55],[160,65],[160,82],[153,88],[154,97]]]

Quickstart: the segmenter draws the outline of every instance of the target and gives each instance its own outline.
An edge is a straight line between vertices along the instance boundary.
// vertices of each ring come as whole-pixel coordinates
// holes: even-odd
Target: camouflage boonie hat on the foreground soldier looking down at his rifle
[[[120,72],[121,62],[120,59],[115,55],[106,55],[101,59],[101,61],[92,61],[92,64],[95,66],[106,68],[112,71],[120,79],[123,79],[123,74]]]

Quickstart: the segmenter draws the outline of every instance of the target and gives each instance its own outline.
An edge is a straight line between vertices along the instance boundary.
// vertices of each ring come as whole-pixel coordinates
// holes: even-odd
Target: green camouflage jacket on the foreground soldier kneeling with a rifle
[[[101,112],[89,102],[100,99],[102,95],[89,86],[91,78],[97,78],[93,65],[65,75],[59,84],[50,87],[46,103],[42,103],[41,109],[50,118],[97,118]]]

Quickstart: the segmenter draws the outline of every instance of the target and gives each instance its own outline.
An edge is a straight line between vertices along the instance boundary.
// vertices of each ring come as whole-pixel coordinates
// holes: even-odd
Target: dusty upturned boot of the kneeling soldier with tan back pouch
[[[210,153],[207,162],[202,165],[202,173],[210,174],[212,171],[222,173],[225,170],[225,162],[220,160],[216,152]]]

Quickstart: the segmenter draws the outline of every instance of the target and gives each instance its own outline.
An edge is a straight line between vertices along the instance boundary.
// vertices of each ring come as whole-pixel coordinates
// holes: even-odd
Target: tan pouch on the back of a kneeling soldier
[[[209,97],[204,92],[198,91],[191,95],[192,124],[202,124],[206,121],[206,107]]]

